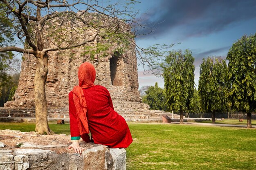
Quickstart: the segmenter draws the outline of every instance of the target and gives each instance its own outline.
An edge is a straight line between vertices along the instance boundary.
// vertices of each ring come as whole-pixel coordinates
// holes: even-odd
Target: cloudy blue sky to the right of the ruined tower
[[[175,44],[172,49],[192,51],[195,57],[195,86],[204,57],[226,58],[232,44],[243,35],[256,33],[256,0],[139,0],[141,22],[153,33],[136,38],[138,46]],[[180,44],[178,44],[180,43]],[[164,87],[164,79],[144,75],[138,66],[139,88]]]

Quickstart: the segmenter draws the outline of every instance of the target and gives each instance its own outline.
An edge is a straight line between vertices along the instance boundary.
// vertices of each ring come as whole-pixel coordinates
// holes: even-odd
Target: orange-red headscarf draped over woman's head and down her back
[[[87,104],[83,94],[82,88],[89,88],[94,86],[96,71],[92,64],[84,62],[78,69],[79,86],[74,86],[73,99],[76,106],[76,114],[80,135],[89,133],[88,120],[86,117]]]

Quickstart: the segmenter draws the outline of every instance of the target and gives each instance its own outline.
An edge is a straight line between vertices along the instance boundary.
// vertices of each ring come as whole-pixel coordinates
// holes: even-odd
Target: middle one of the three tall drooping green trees
[[[227,64],[220,57],[203,59],[200,65],[198,93],[204,112],[212,113],[215,123],[217,111],[226,110],[228,102]]]

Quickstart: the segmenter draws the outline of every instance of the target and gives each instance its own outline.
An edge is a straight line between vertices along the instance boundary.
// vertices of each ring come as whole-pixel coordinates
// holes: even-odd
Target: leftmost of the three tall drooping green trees
[[[171,110],[180,111],[180,123],[183,124],[183,112],[189,110],[194,91],[194,57],[190,50],[171,51],[163,68],[166,105]]]

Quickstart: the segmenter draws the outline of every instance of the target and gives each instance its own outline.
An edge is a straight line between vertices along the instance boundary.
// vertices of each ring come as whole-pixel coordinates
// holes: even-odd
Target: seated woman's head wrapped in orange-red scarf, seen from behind
[[[92,64],[84,62],[78,69],[79,86],[88,88],[93,85],[96,77],[96,71]]]

